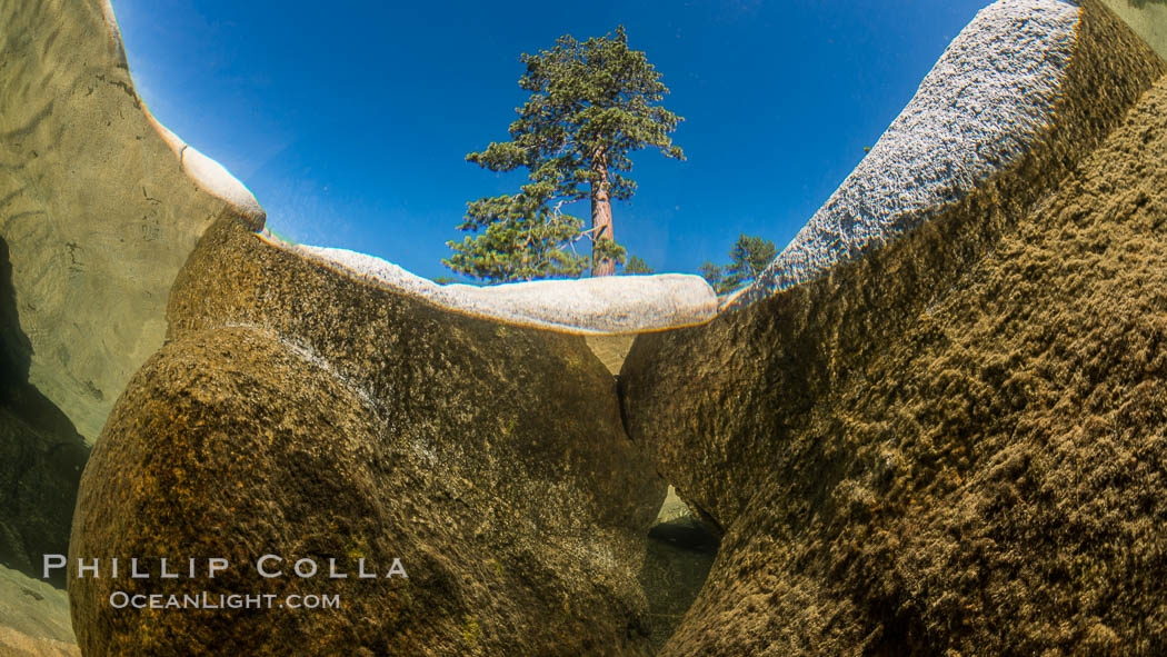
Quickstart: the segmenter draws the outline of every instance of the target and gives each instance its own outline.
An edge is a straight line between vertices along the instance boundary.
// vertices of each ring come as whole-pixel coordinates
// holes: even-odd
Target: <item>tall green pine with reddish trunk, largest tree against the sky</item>
[[[518,194],[467,204],[459,230],[475,232],[443,260],[454,271],[487,280],[579,275],[586,264],[574,244],[592,239],[592,274],[609,275],[623,261],[616,244],[612,201],[636,193],[629,154],[655,146],[684,160],[671,133],[683,119],[659,105],[669,89],[644,53],[628,48],[623,26],[615,35],[584,43],[561,36],[551,50],[522,56],[519,86],[531,92],[510,125],[511,141],[491,142],[467,161],[492,172],[526,168]],[[592,228],[561,211],[589,200]]]

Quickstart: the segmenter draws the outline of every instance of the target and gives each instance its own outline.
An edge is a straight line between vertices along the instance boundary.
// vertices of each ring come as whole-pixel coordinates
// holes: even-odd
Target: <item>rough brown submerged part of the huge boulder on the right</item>
[[[1083,2],[1019,162],[636,338],[629,435],[725,532],[662,655],[1167,653],[1163,71]]]

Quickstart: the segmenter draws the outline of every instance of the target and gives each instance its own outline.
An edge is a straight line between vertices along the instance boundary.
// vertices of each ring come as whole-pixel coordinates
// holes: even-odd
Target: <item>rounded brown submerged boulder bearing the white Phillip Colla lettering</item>
[[[230,215],[82,480],[71,555],[228,559],[214,580],[71,578],[86,653],[648,655],[637,582],[665,484],[584,336],[471,317]],[[281,578],[258,576],[264,554]],[[329,559],[347,579],[291,574]],[[361,579],[361,560],[377,579]],[[394,559],[408,579],[386,578]],[[76,574],[76,564],[70,568]],[[152,566],[158,573],[158,564]],[[144,615],[138,593],[340,595]]]

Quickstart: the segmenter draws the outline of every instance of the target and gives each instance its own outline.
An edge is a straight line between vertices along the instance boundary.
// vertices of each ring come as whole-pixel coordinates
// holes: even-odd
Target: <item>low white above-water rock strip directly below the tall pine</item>
[[[708,321],[718,298],[701,277],[657,274],[536,280],[505,285],[438,285],[380,258],[320,246],[294,250],[377,285],[452,310],[581,334],[628,334]]]

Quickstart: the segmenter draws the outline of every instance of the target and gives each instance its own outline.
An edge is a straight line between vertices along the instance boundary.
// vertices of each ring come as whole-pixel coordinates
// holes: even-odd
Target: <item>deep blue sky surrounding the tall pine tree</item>
[[[285,238],[429,278],[466,202],[522,176],[464,161],[508,139],[518,57],[627,27],[685,117],[686,162],[634,156],[616,239],[658,272],[781,249],[987,0],[113,0],[139,93],[256,194]]]

